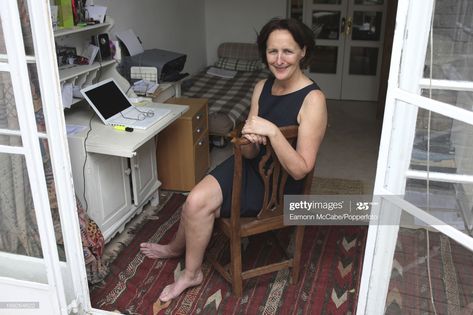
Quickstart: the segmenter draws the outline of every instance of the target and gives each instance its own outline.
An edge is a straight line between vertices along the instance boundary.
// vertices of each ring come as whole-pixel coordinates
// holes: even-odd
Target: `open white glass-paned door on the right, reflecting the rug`
[[[399,0],[357,314],[471,312],[472,13]]]

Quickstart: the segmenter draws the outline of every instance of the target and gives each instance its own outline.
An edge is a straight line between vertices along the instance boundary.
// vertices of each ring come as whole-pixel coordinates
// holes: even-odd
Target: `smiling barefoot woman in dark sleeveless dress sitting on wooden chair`
[[[275,18],[261,29],[258,48],[273,77],[254,88],[248,119],[242,136],[250,141],[242,149],[246,185],[242,192],[244,216],[254,216],[261,207],[262,184],[254,171],[259,147],[271,142],[282,166],[292,179],[286,193],[300,192],[301,179],[315,166],[315,159],[327,124],[325,97],[302,69],[309,65],[315,49],[312,31],[293,19]],[[298,124],[298,140],[293,148],[279,127]],[[149,258],[169,258],[185,254],[185,269],[160,295],[163,302],[179,296],[203,281],[202,261],[215,218],[230,214],[233,157],[204,177],[189,193],[183,205],[175,238],[166,245],[143,243]],[[244,180],[245,180],[244,179]],[[299,189],[299,190],[298,190]]]

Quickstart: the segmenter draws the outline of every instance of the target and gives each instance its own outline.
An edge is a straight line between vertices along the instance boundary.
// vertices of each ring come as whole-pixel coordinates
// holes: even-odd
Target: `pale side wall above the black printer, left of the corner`
[[[88,1],[91,3],[91,0]],[[194,73],[206,65],[204,0],[94,0],[106,6],[115,33],[127,29],[143,41],[143,47],[187,55],[184,72]]]

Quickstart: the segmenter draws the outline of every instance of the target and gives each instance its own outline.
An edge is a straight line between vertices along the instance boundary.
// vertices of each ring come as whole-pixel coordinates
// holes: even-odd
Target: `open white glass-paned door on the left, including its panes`
[[[84,313],[91,307],[49,2],[2,0],[0,20],[0,313]]]

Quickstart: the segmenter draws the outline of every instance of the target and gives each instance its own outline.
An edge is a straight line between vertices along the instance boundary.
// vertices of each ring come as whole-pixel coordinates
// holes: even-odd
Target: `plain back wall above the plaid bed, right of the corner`
[[[217,60],[220,43],[254,43],[260,28],[286,11],[286,0],[205,0],[207,63]]]

